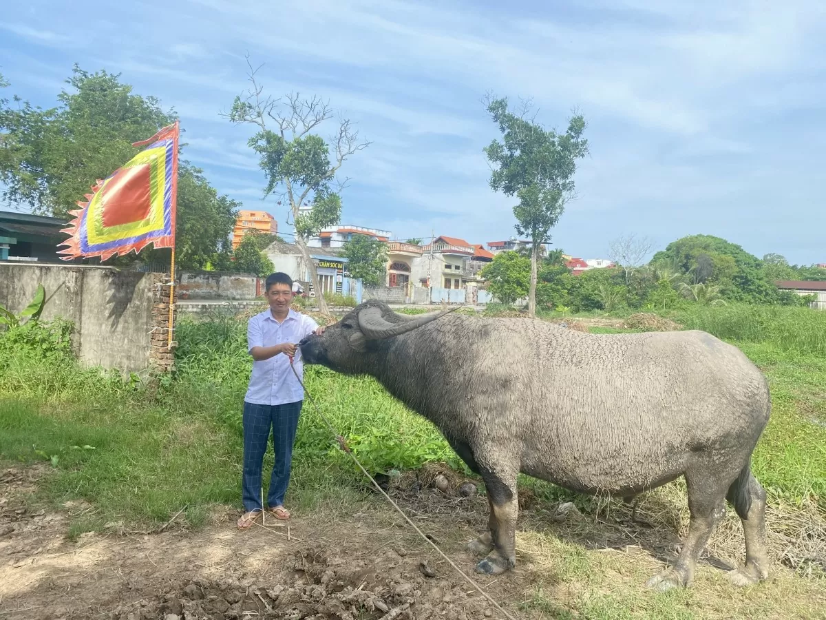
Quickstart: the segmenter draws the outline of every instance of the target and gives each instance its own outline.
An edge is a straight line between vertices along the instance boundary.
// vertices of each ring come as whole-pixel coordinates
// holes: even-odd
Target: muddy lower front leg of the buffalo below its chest
[[[516,565],[516,517],[519,516],[516,475],[509,476],[506,482],[500,473],[482,469],[482,479],[491,511],[487,521],[490,532],[471,543],[472,551],[481,552],[486,548],[489,551],[476,565],[477,572],[499,575]]]

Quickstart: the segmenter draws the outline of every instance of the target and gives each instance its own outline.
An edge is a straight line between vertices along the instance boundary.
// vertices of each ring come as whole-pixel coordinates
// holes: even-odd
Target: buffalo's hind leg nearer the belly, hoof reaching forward
[[[726,484],[719,484],[719,477],[705,470],[704,475],[686,473],[688,509],[691,519],[688,536],[682,543],[680,555],[673,566],[648,579],[646,586],[657,590],[669,590],[689,586],[694,580],[694,569],[700,553],[705,549],[714,527],[725,515]]]

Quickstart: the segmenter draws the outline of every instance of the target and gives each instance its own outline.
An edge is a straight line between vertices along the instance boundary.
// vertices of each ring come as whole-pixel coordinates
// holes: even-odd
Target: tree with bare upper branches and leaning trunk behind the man
[[[296,229],[296,245],[310,269],[313,288],[320,291],[316,265],[307,246],[311,236],[339,222],[341,197],[345,182],[333,187],[335,174],[350,155],[368,146],[360,141],[349,120],[339,121],[330,145],[317,136],[321,123],[332,117],[330,105],[319,98],[305,99],[297,94],[281,98],[263,96],[263,87],[255,79],[256,69],[249,66],[251,88],[235,97],[225,114],[234,124],[254,125],[258,131],[249,146],[259,155],[259,165],[267,179],[264,197],[281,191]],[[332,149],[332,158],[330,150]],[[279,201],[279,204],[281,201]],[[289,223],[289,221],[287,221]],[[323,295],[316,295],[321,312],[328,313]]]

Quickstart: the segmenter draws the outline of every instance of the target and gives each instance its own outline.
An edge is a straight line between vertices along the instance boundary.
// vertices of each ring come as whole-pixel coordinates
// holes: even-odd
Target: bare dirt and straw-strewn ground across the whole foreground
[[[289,527],[273,520],[239,532],[240,511],[216,508],[197,532],[176,523],[160,533],[129,532],[111,523],[105,533],[71,541],[69,523],[91,507],[38,508],[31,494],[46,470],[0,468],[0,618],[504,618],[397,513],[371,498],[355,510],[297,514]],[[529,497],[516,569],[476,575],[463,543],[486,527],[484,498],[425,488],[397,501],[515,618],[826,618],[826,579],[801,579],[780,564],[749,592],[732,589],[719,570],[732,560],[711,556],[690,592],[647,593],[644,580],[674,557],[675,531],[624,517],[594,527],[576,510],[532,509]],[[724,527],[718,541],[738,536],[732,532]],[[742,542],[729,546],[739,555]]]

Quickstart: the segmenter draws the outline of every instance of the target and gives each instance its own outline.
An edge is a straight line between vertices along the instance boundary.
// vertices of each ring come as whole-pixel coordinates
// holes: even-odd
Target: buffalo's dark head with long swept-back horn
[[[374,299],[362,303],[327,327],[323,334],[306,336],[298,346],[306,364],[325,365],[344,374],[361,374],[367,370],[366,358],[381,349],[382,342],[413,331],[443,317],[450,310],[428,312],[408,317],[396,314],[386,303]]]

